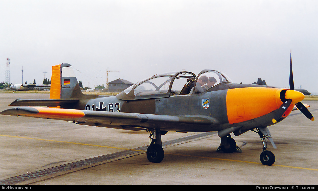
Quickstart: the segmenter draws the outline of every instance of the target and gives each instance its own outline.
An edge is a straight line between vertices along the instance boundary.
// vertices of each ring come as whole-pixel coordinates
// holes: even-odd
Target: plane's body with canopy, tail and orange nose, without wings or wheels
[[[193,123],[191,126],[190,120],[187,127],[174,127],[169,123],[151,123],[148,126],[165,131],[203,132],[231,127],[239,127],[240,130],[267,127],[283,120],[292,111],[294,104],[304,98],[301,92],[298,94],[294,90],[257,84],[235,84],[220,71],[210,69],[202,70],[198,76],[189,71],[156,74],[135,83],[116,96],[89,96],[81,93],[76,77],[67,72],[72,69],[70,65],[56,67],[57,96],[51,97],[51,91],[50,98],[78,100],[77,104],[62,104],[61,109],[178,116],[187,119],[201,117],[211,121],[207,125],[196,126],[197,123]],[[210,82],[214,82],[213,85],[209,85]],[[278,110],[287,99],[293,102],[281,115]],[[280,115],[278,118],[276,113]],[[128,126],[138,128],[134,124]],[[126,124],[121,127],[128,126]]]

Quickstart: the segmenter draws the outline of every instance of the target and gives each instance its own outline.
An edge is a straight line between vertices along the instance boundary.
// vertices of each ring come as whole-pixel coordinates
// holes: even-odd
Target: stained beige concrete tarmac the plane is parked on
[[[16,98],[48,98],[49,94],[0,93],[0,110]],[[316,118],[299,111],[269,129],[277,149],[272,166],[259,161],[262,143],[254,132],[232,135],[243,152],[219,153],[217,134],[164,146],[161,163],[150,163],[145,152],[84,166],[52,177],[17,185],[317,185],[318,102],[310,105]],[[168,132],[162,142],[201,133]],[[0,182],[11,177],[149,145],[146,131],[91,127],[74,123],[0,115]],[[2,182],[3,183],[3,182]]]

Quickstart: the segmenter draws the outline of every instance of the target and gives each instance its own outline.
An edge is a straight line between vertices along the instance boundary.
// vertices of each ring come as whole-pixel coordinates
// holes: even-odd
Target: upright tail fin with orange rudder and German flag
[[[52,66],[50,99],[83,98],[71,64]]]

